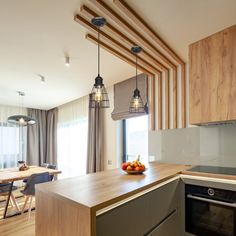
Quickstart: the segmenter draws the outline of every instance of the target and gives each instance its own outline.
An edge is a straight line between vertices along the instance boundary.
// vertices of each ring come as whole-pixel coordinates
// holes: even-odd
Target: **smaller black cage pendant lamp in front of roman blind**
[[[145,113],[145,106],[138,89],[138,53],[141,52],[141,50],[142,48],[139,46],[134,46],[131,48],[131,52],[136,56],[136,88],[130,102],[130,113]]]

